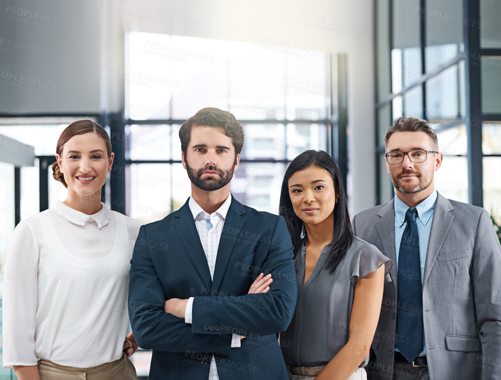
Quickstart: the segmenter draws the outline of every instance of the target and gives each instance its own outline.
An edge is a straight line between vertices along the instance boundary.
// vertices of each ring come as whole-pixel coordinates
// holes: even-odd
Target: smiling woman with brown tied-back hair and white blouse
[[[101,202],[114,153],[90,120],[61,134],[54,179],[64,202],[21,221],[4,283],[4,367],[25,379],[135,379],[127,332],[130,259],[140,222]]]

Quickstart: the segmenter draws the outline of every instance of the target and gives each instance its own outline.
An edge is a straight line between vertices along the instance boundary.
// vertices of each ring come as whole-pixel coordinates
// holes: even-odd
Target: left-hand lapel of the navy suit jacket
[[[207,257],[205,257],[202,243],[198,237],[198,231],[196,230],[195,221],[189,209],[188,201],[186,201],[176,213],[174,227],[179,234],[179,238],[186,247],[198,274],[202,278],[203,284],[207,289],[210,289],[212,281],[210,279],[209,265],[207,264]]]

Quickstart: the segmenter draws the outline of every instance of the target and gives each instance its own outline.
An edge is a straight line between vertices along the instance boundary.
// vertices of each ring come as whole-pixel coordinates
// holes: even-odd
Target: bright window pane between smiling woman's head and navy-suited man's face
[[[130,194],[125,213],[143,224],[164,218],[171,212],[172,188],[181,186],[173,178],[170,164],[130,164],[125,169]]]

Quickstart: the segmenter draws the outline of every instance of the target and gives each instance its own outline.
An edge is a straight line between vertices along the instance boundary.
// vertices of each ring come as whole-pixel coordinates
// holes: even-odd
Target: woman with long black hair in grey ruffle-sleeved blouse
[[[289,377],[366,379],[392,262],[353,234],[341,173],[326,152],[308,150],[291,162],[280,214],[298,282],[294,316],[280,334]]]

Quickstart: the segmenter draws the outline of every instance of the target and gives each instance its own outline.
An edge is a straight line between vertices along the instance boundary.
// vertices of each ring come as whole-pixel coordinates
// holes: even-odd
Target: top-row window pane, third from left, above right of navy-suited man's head
[[[284,81],[288,79],[287,54],[268,50],[268,45],[236,41],[230,41],[228,44],[231,52],[228,73],[229,111],[237,120],[283,120],[285,84],[289,83]],[[249,105],[251,108],[248,108]]]

